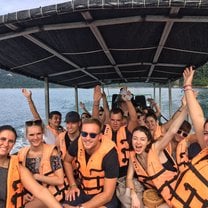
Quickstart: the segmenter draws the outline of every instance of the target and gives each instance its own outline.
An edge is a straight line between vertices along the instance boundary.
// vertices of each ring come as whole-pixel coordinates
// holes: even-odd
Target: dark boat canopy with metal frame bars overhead
[[[0,16],[0,68],[50,83],[166,84],[207,60],[207,0],[75,0]]]

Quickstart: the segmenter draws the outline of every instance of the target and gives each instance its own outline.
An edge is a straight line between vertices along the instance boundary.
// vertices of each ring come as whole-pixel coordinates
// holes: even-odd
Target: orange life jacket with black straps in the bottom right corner
[[[171,203],[175,208],[208,207],[208,147],[180,174]]]

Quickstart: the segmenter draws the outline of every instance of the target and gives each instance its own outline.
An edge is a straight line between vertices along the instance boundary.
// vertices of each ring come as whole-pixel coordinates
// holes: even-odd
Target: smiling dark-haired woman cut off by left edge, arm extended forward
[[[23,186],[45,206],[61,208],[48,189],[37,183],[31,173],[19,164],[18,157],[10,155],[16,138],[17,133],[12,126],[0,126],[0,208],[23,207]]]

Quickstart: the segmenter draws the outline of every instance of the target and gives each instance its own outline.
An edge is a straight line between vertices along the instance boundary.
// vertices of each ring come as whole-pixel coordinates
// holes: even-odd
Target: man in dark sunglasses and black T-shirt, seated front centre
[[[66,208],[117,208],[115,188],[119,175],[118,155],[114,142],[104,138],[101,127],[101,122],[96,118],[83,121],[79,139],[72,142],[68,148],[64,159],[64,168],[70,184],[67,201],[64,203]],[[75,157],[77,181],[72,171]]]

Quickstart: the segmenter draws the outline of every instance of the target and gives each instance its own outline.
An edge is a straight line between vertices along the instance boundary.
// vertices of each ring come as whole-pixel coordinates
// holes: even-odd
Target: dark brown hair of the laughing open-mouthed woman
[[[148,153],[152,144],[155,142],[150,130],[146,126],[138,126],[132,131],[132,136],[136,131],[143,132],[147,136],[147,140],[150,141],[150,143],[145,148],[145,152]],[[130,140],[130,150],[133,150],[132,139]]]

